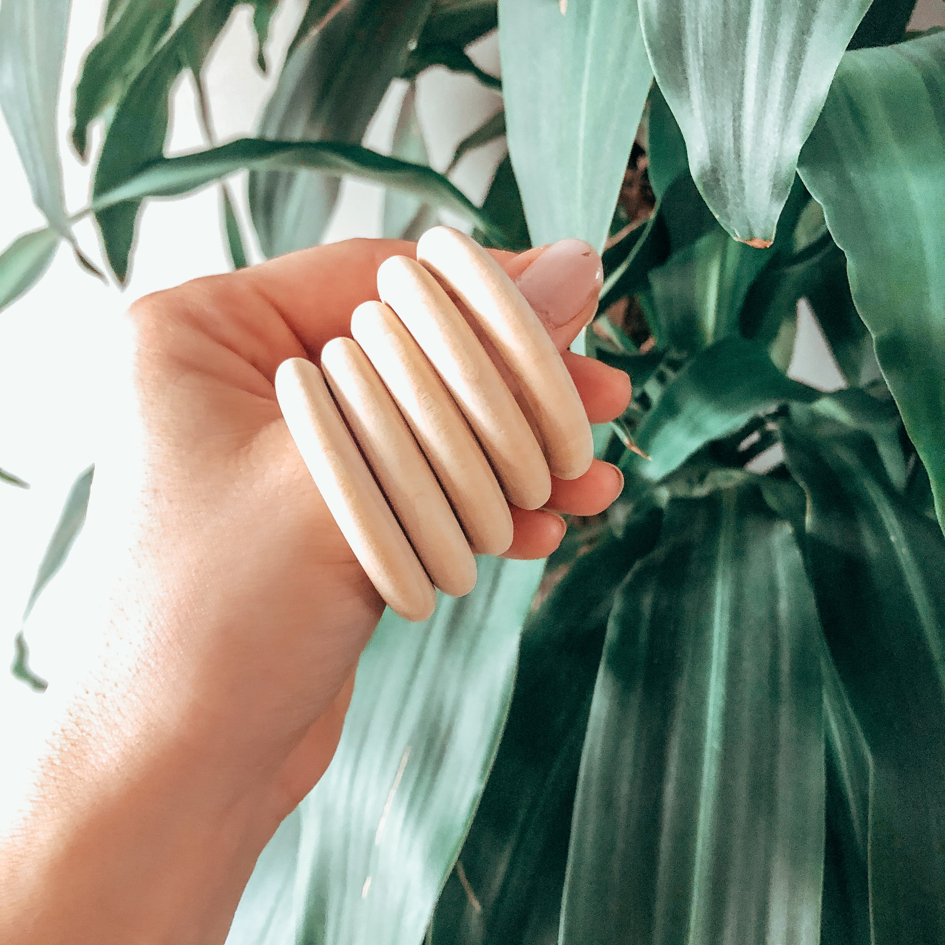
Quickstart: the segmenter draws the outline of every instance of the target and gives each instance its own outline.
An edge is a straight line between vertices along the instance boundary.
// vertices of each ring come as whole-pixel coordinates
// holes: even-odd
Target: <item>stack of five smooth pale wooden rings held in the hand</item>
[[[416,260],[380,266],[377,288],[382,301],[352,315],[353,340],[329,341],[320,370],[284,361],[276,394],[355,557],[390,608],[420,621],[433,613],[435,586],[472,591],[473,554],[507,551],[508,504],[543,506],[552,474],[587,472],[593,441],[541,321],[469,236],[425,232]]]

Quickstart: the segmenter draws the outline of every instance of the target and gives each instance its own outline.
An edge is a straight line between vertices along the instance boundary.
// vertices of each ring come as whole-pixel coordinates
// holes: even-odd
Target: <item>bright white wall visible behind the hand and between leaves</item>
[[[88,168],[79,163],[68,142],[70,87],[83,53],[94,42],[103,0],[74,0],[65,61],[65,92],[60,133],[65,186],[70,211],[86,202]],[[269,60],[278,66],[295,31],[303,0],[283,0],[271,32]],[[945,26],[941,0],[920,0],[915,28]],[[480,64],[498,72],[496,43],[478,50]],[[215,47],[206,72],[215,133],[219,141],[251,134],[271,83],[255,66],[255,36],[249,8],[239,9]],[[388,94],[366,143],[385,149],[403,94],[403,83]],[[457,107],[457,98],[459,107]],[[419,111],[428,137],[431,163],[442,169],[455,144],[499,107],[498,96],[470,77],[442,69],[421,77]],[[194,94],[181,81],[174,96],[174,151],[204,146],[195,117]],[[98,135],[93,141],[98,143]],[[484,195],[502,146],[490,146],[460,164],[454,180],[473,200]],[[0,248],[21,232],[43,225],[9,137],[0,122]],[[235,179],[242,193],[244,181]],[[241,200],[245,218],[245,204]],[[0,812],[23,759],[36,739],[43,697],[33,694],[6,671],[12,640],[20,627],[26,597],[43,556],[61,504],[77,474],[94,460],[98,366],[112,351],[110,326],[130,301],[197,276],[224,272],[229,262],[220,234],[218,192],[207,189],[175,201],[152,201],[143,215],[140,241],[127,289],[96,282],[81,271],[68,249],[60,249],[43,281],[0,313],[0,467],[30,484],[17,490],[0,484]],[[376,235],[380,192],[366,184],[346,182],[339,212],[328,239]],[[246,230],[246,228],[244,228]],[[82,246],[100,258],[91,224],[77,227]],[[258,256],[256,257],[258,258]],[[839,386],[839,375],[824,357],[816,323],[802,312],[794,373],[819,387]],[[82,645],[88,627],[83,613],[83,569],[94,559],[83,555],[81,539],[33,611],[27,626],[32,664],[55,685],[57,667]],[[2,813],[0,813],[2,816]]]

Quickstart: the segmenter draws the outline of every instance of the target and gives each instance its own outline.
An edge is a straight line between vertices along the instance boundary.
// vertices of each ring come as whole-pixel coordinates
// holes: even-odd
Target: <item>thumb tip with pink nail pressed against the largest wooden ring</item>
[[[583,240],[563,239],[508,260],[506,270],[564,351],[597,309],[604,268],[596,250]]]

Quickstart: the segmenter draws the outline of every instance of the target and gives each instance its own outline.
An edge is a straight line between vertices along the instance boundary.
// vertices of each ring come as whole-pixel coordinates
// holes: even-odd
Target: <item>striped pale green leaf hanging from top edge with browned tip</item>
[[[735,239],[770,245],[800,148],[869,0],[639,2],[699,192]]]

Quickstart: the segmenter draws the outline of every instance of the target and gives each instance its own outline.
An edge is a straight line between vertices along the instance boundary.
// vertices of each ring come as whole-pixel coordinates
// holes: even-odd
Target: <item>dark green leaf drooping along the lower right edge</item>
[[[782,421],[788,467],[807,493],[821,623],[872,760],[873,936],[877,945],[941,942],[945,539],[892,489],[865,434],[824,434],[799,407]]]

